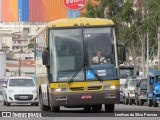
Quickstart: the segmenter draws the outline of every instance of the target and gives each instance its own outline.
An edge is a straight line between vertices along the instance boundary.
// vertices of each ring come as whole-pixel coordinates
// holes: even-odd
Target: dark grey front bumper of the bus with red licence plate
[[[116,91],[51,93],[51,106],[85,106],[119,104],[120,94]]]

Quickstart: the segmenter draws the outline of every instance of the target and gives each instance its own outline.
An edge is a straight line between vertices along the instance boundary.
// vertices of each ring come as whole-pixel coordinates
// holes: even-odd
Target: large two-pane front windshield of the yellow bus
[[[88,75],[85,78],[87,71],[95,71],[102,79],[107,79],[103,78],[107,77],[106,73],[113,74],[105,66],[115,64],[111,27],[50,30],[49,48],[52,82],[70,81],[73,76],[74,81],[98,79],[93,73],[91,78]],[[98,51],[102,55],[100,62],[96,56]]]

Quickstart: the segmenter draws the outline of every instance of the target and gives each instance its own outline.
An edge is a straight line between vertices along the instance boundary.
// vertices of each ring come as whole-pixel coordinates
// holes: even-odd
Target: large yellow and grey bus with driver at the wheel
[[[120,101],[114,23],[66,18],[48,23],[36,36],[36,83],[40,109],[60,107],[113,112]]]

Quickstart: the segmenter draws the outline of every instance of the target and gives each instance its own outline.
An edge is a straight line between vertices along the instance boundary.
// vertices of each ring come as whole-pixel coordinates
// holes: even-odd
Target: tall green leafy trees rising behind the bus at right
[[[142,48],[146,47],[146,36],[149,33],[150,55],[157,50],[158,27],[160,26],[160,0],[141,0],[140,4],[133,5],[133,0],[126,0],[118,6],[119,0],[100,0],[99,5],[87,3],[85,17],[112,19],[116,27],[118,43],[122,43],[129,55],[136,58],[146,54]],[[133,9],[133,6],[136,9]],[[107,13],[105,13],[108,8]],[[143,47],[142,47],[143,46]],[[130,52],[129,52],[130,51]],[[144,58],[145,60],[145,58]]]

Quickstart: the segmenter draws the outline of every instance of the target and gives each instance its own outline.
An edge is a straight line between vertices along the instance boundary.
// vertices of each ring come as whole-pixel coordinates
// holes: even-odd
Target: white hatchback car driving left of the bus
[[[38,96],[35,82],[30,77],[9,77],[7,84],[3,84],[4,105],[11,103],[31,103],[38,106]]]

